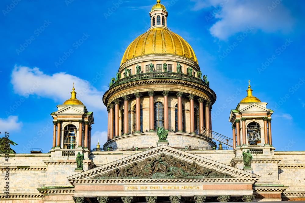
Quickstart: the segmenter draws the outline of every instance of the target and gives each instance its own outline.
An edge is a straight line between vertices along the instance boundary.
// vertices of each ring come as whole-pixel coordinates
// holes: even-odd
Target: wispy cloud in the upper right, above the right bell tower
[[[267,33],[282,31],[290,32],[294,20],[288,9],[279,3],[274,9],[272,1],[265,0],[191,0],[195,2],[193,10],[213,9],[216,14],[208,17],[219,19],[211,28],[210,33],[220,40],[227,40],[235,33],[245,32],[247,26]]]

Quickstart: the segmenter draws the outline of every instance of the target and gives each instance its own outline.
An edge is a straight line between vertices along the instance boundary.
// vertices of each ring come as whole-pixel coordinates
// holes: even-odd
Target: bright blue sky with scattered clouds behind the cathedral
[[[276,150],[304,150],[305,2],[161,3],[169,14],[168,27],[192,46],[217,95],[213,130],[232,136],[230,110],[247,95],[250,80],[253,95],[274,110]],[[0,132],[10,133],[17,153],[51,149],[50,113],[70,98],[73,82],[77,98],[94,112],[91,146],[98,138],[106,142],[102,95],[126,47],[149,28],[154,4],[155,0],[0,2]]]

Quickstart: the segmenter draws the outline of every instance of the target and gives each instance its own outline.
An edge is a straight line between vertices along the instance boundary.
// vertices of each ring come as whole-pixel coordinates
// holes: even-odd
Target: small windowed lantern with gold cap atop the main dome
[[[149,16],[150,29],[167,29],[167,11],[165,6],[160,4],[160,0],[157,0],[157,4],[152,6],[152,10],[149,12]]]

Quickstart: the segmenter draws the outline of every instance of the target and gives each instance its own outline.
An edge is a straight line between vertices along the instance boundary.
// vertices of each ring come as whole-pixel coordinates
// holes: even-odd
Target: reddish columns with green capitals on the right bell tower
[[[236,119],[235,123],[236,126],[232,126],[233,130],[233,150],[237,146],[241,146],[240,143],[240,121],[242,121],[242,145],[247,145],[246,143],[246,118]],[[272,146],[272,139],[271,139],[271,118],[264,117],[264,138],[265,138],[265,145]],[[236,129],[236,134],[235,134]],[[235,139],[236,135],[236,139]],[[237,143],[236,143],[237,142]],[[235,143],[237,146],[235,146]]]

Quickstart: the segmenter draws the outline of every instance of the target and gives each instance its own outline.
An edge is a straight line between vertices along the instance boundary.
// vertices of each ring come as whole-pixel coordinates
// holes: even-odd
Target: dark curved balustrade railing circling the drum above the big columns
[[[155,78],[181,79],[186,81],[193,81],[209,87],[209,84],[206,84],[201,78],[197,78],[192,75],[187,75],[183,73],[173,73],[173,72],[150,72],[150,73],[140,73],[128,77],[123,77],[120,80],[115,81],[113,84],[110,84],[109,89],[131,81],[155,79]]]

